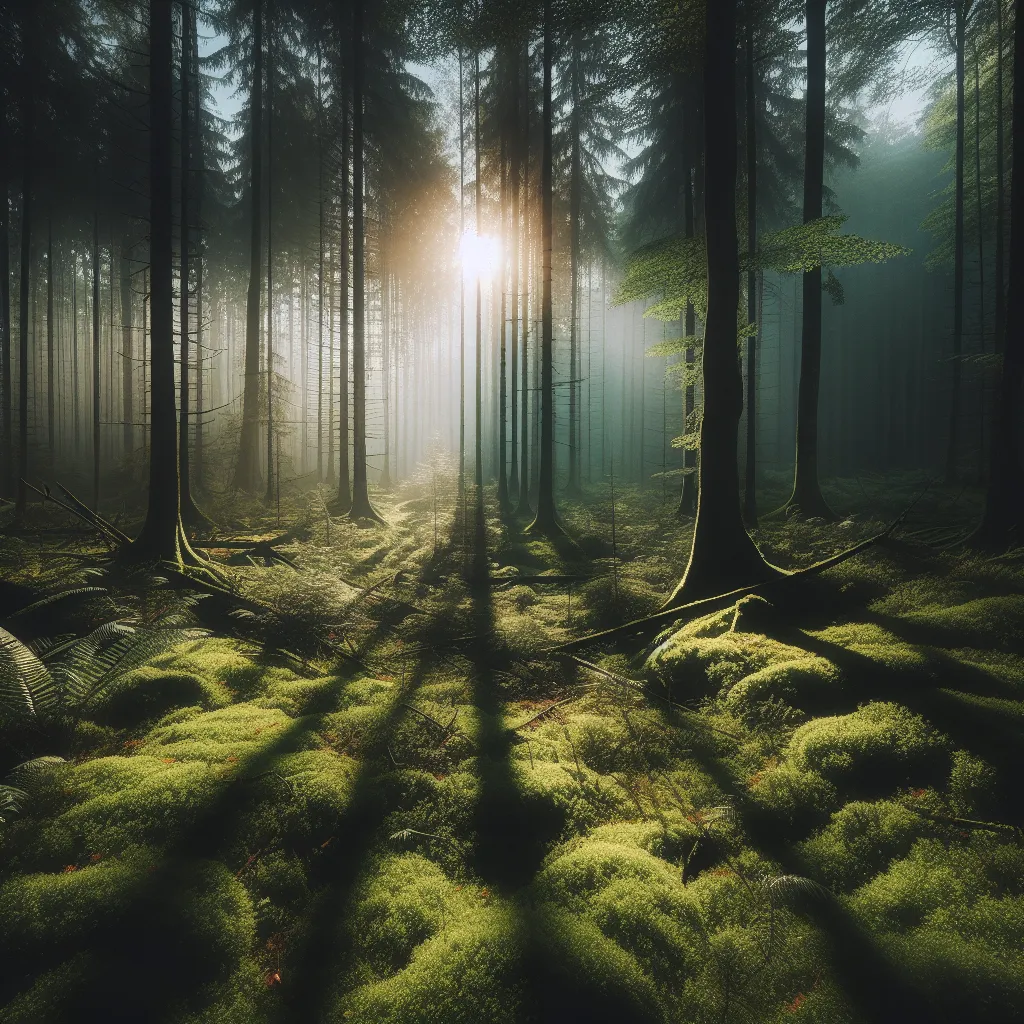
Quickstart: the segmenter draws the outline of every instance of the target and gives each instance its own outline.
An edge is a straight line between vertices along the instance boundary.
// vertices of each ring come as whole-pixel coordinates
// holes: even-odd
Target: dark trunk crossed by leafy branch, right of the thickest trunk
[[[804,223],[821,216],[825,167],[825,0],[807,0],[807,111]],[[818,390],[821,383],[821,267],[803,275],[804,318],[797,398],[797,460],[786,508],[833,522],[818,483]]]

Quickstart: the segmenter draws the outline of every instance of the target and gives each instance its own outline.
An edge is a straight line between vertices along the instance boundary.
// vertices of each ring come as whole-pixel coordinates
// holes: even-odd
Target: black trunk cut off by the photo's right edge
[[[1024,68],[1024,0],[1014,4],[1014,67]],[[1000,17],[1001,29],[1001,17]],[[1001,34],[1001,33],[1000,33]],[[1001,84],[1001,83],[1000,83]],[[1010,181],[1010,280],[1002,366],[993,388],[988,486],[977,547],[994,550],[1021,543],[1024,471],[1021,467],[1021,385],[1024,382],[1024,76],[1013,80],[1013,169]],[[999,339],[996,339],[997,343]]]

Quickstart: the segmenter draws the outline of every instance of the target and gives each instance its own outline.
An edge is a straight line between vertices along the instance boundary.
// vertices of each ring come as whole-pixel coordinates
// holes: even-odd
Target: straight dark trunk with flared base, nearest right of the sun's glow
[[[541,296],[541,451],[537,495],[537,518],[531,530],[560,530],[555,512],[555,417],[552,367],[553,321],[551,308],[551,255],[554,227],[551,152],[551,70],[554,40],[551,32],[551,0],[544,0],[544,152],[541,157],[541,244],[544,251]]]

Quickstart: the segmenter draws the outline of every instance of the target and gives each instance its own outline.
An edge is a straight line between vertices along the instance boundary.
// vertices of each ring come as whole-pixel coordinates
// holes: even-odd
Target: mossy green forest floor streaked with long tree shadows
[[[916,493],[755,536],[810,564]],[[19,711],[0,649],[0,775],[68,760],[10,780],[0,1022],[1024,1020],[1024,557],[913,532],[964,501],[784,606],[579,652],[603,674],[549,649],[671,591],[660,490],[617,498],[614,551],[605,494],[559,544],[429,479],[375,501],[286,500],[297,568],[233,568],[229,613],[87,537],[0,542],[0,624],[79,694]],[[59,676],[126,615],[173,643]]]

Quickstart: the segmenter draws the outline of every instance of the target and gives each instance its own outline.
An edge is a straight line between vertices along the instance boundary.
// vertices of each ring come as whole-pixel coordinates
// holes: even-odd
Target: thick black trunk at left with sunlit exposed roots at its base
[[[150,268],[152,419],[150,498],[128,561],[198,562],[178,512],[178,438],[174,409],[174,293],[171,0],[150,0]]]

